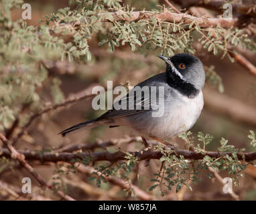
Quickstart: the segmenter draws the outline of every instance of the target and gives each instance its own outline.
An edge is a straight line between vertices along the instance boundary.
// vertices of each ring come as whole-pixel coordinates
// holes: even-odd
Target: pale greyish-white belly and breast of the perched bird
[[[202,92],[195,98],[177,94],[175,99],[168,100],[170,102],[165,102],[162,116],[152,116],[153,111],[147,111],[123,118],[120,123],[130,126],[143,136],[151,134],[161,139],[189,130],[200,116],[204,106]]]

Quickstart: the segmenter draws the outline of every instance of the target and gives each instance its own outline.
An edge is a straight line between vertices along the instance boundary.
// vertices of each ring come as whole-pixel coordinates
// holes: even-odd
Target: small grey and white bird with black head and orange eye
[[[168,144],[166,139],[192,128],[204,106],[202,88],[205,72],[202,62],[196,56],[186,53],[158,57],[166,62],[166,72],[140,82],[137,87],[129,90],[126,96],[113,104],[127,108],[113,108],[99,118],[81,122],[59,134],[67,136],[101,125],[128,126],[139,132],[143,143],[147,145],[145,138],[153,138]],[[137,88],[143,87],[152,90],[136,96]]]

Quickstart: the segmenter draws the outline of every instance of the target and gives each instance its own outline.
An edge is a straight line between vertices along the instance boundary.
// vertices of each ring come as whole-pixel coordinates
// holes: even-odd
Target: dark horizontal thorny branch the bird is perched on
[[[117,151],[117,152],[77,152],[74,153],[68,153],[68,152],[42,152],[42,151],[29,151],[29,150],[19,150],[20,154],[23,154],[26,158],[26,160],[40,160],[42,162],[58,162],[58,161],[64,161],[67,163],[73,163],[74,160],[79,161],[83,158],[91,158],[92,161],[101,161],[101,160],[107,160],[111,163],[117,162],[119,160],[127,160],[124,152]],[[133,156],[136,156],[138,158],[138,161],[141,160],[148,160],[148,159],[159,159],[163,156],[163,154],[160,151],[157,150],[143,150],[140,152],[129,152],[130,154],[133,154]],[[233,152],[205,152],[205,154],[190,151],[190,150],[176,150],[176,154],[178,156],[183,155],[185,159],[190,160],[202,160],[204,156],[210,156],[211,158],[220,158],[225,155],[232,156]],[[10,152],[2,148],[0,149],[0,157],[5,156],[7,158],[11,158]],[[241,152],[237,154],[237,158],[239,160],[244,160],[243,156],[245,158],[245,161],[252,161],[256,160],[256,152]]]

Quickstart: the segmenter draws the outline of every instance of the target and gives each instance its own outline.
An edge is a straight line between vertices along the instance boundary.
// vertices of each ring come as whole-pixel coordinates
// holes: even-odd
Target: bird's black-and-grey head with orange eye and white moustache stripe
[[[205,73],[202,62],[191,54],[176,54],[172,58],[159,56],[166,62],[166,76],[170,86],[193,97],[202,89]]]

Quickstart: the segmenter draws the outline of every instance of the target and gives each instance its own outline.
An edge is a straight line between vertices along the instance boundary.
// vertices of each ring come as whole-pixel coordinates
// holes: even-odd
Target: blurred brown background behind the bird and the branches
[[[149,1],[125,1],[135,11],[152,10],[157,5],[166,5],[165,1],[149,0]],[[172,1],[170,1],[172,2]],[[62,1],[26,1],[31,4],[32,17],[27,20],[27,25],[39,26],[40,20],[44,15],[56,13],[58,9],[68,7],[69,3],[66,0]],[[182,3],[177,1],[172,2],[178,9],[182,9]],[[166,5],[168,7],[168,5]],[[202,8],[202,7],[200,7]],[[187,9],[189,9],[187,7]],[[216,11],[206,9],[209,15],[218,15]],[[11,16],[13,20],[20,19],[22,10],[15,9]],[[249,35],[251,38],[255,35]],[[157,52],[148,51],[146,54],[141,54],[139,48],[137,51],[131,51],[128,45],[123,45],[116,49],[114,53],[110,53],[106,48],[100,48],[97,41],[97,35],[92,36],[88,41],[92,60],[84,64],[79,64],[75,68],[70,67],[70,72],[61,74],[56,72],[58,76],[58,85],[62,91],[60,98],[68,98],[72,94],[81,92],[82,90],[92,86],[107,86],[107,80],[113,80],[113,85],[126,85],[129,81],[130,86],[158,74],[164,72],[165,64],[157,58]],[[207,81],[204,87],[205,106],[202,110],[200,118],[192,128],[193,134],[196,136],[198,131],[214,136],[214,140],[208,144],[207,150],[216,150],[220,146],[220,138],[224,137],[229,140],[237,148],[246,148],[248,152],[255,150],[250,145],[250,140],[247,138],[249,130],[256,130],[256,76],[253,75],[247,68],[241,66],[238,62],[232,63],[229,58],[220,59],[219,56],[213,56],[203,49],[198,43],[194,43],[196,49],[195,55],[202,60],[206,70],[212,68],[218,82],[212,84]],[[251,51],[241,51],[241,54],[249,62],[256,65],[256,54]],[[214,67],[211,67],[214,66]],[[56,80],[57,81],[57,80]],[[222,88],[224,90],[222,90]],[[45,103],[53,102],[52,89],[46,88],[42,92],[40,99]],[[92,119],[99,116],[103,111],[95,111],[92,109],[91,100],[81,100],[70,106],[50,112],[38,118],[29,126],[27,134],[23,135],[21,140],[17,141],[15,148],[21,150],[48,150],[52,148],[60,148],[62,146],[78,143],[94,144],[95,142],[105,142],[110,139],[125,138],[126,136],[135,136],[133,130],[125,127],[109,128],[101,126],[78,132],[62,138],[57,133],[65,128],[84,120]],[[170,139],[170,142],[184,149],[184,141],[180,138]],[[143,148],[141,142],[133,142],[129,144],[119,144],[121,150],[135,151]],[[109,146],[107,150],[115,151],[117,146]],[[95,148],[93,151],[104,151],[105,148]],[[94,163],[97,167],[103,163]],[[159,160],[151,160],[148,167],[145,167],[145,161],[141,161],[136,168],[139,172],[129,175],[134,185],[148,192],[151,186],[153,173],[159,170],[161,163]],[[43,177],[51,181],[58,171],[58,164],[47,163],[41,165],[34,163],[34,167]],[[220,172],[221,177],[229,177],[227,173]],[[222,184],[218,179],[208,179],[206,175],[201,175],[202,181],[197,185],[192,185],[193,191],[187,188],[182,188],[182,191],[176,193],[175,190],[166,191],[166,195],[161,197],[159,191],[155,190],[152,194],[156,200],[234,200],[234,198],[222,192]],[[0,180],[9,183],[15,187],[21,187],[21,179],[29,177],[25,169],[13,165],[0,172]],[[88,181],[90,175],[82,172],[76,174],[65,175],[63,184],[68,190],[68,194],[80,200],[134,200],[138,199],[130,194],[127,194],[119,185],[113,183],[103,183],[101,188],[97,188],[94,181]],[[47,199],[58,199],[52,195],[51,191],[40,188],[36,185],[37,181],[32,179],[33,193],[35,195],[44,195]],[[233,190],[239,199],[255,200],[256,199],[256,169],[251,165],[247,167],[244,177],[240,178],[240,185],[233,186]],[[13,197],[0,191],[1,200],[11,200]],[[21,199],[21,197],[19,198]],[[27,199],[26,197],[24,199]]]

